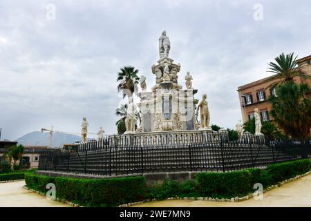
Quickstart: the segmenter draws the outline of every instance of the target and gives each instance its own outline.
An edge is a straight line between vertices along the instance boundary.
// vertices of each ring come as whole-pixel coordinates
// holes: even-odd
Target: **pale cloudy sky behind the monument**
[[[262,20],[254,19],[256,3]],[[162,30],[181,64],[179,83],[185,87],[189,70],[196,98],[207,93],[211,123],[234,128],[238,86],[270,75],[267,63],[281,52],[311,55],[310,8],[310,0],[3,0],[1,139],[51,125],[78,133],[83,116],[90,132],[115,133],[116,73],[135,66],[150,89]]]

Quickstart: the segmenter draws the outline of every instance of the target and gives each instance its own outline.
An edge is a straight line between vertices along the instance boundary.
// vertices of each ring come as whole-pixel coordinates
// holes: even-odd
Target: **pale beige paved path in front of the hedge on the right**
[[[202,200],[162,200],[135,204],[134,206],[144,207],[260,207],[260,206],[276,206],[276,207],[310,207],[311,206],[311,174],[301,177],[298,180],[288,182],[283,186],[267,191],[263,194],[263,200],[254,200],[254,198],[243,202],[209,202]]]

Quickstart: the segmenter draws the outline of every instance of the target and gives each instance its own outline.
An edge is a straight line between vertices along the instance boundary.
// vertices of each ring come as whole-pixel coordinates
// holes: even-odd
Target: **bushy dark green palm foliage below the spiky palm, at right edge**
[[[296,84],[286,81],[276,88],[277,97],[271,96],[274,121],[284,131],[295,139],[308,140],[311,127],[311,99],[308,84]]]

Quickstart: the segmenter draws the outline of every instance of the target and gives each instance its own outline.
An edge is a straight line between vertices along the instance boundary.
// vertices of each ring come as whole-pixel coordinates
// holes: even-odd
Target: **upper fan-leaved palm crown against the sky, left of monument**
[[[131,97],[135,91],[138,90],[137,84],[140,77],[138,77],[138,70],[132,66],[125,66],[120,68],[120,72],[117,73],[117,81],[120,84],[117,85],[117,92],[122,91],[123,98],[128,95]]]

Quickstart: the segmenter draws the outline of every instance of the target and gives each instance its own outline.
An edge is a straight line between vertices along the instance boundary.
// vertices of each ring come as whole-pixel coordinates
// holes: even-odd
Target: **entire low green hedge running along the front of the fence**
[[[117,206],[128,202],[179,197],[234,198],[253,193],[254,184],[263,187],[277,184],[311,170],[310,160],[273,164],[267,169],[246,169],[227,173],[197,173],[195,180],[176,182],[165,180],[146,186],[144,177],[122,177],[101,180],[47,177],[28,172],[28,187],[46,192],[46,184],[55,183],[57,198],[84,206]]]

